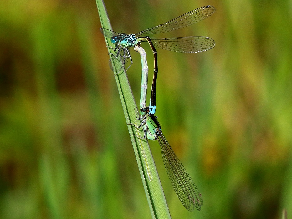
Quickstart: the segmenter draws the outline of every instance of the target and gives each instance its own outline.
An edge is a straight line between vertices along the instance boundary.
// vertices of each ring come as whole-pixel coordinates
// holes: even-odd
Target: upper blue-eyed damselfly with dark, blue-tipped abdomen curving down
[[[105,37],[110,38],[111,43],[115,46],[110,48],[113,50],[110,53],[110,66],[113,70],[113,64],[119,72],[125,65],[128,59],[132,58],[130,55],[129,47],[140,45],[142,41],[147,41],[151,46],[154,55],[154,75],[151,88],[151,99],[149,105],[149,114],[154,115],[156,111],[156,79],[158,73],[157,66],[157,52],[155,47],[182,53],[198,53],[207,51],[215,46],[213,39],[209,37],[176,37],[176,38],[152,38],[146,36],[146,34],[164,33],[179,28],[187,27],[191,24],[197,23],[215,12],[215,8],[211,5],[207,5],[201,8],[197,8],[188,13],[185,13],[177,18],[174,18],[164,24],[148,28],[136,34],[117,33],[109,29],[100,28]],[[144,36],[141,36],[144,35]],[[129,67],[131,66],[129,65]],[[129,68],[128,67],[128,68]],[[127,69],[128,69],[127,68]]]

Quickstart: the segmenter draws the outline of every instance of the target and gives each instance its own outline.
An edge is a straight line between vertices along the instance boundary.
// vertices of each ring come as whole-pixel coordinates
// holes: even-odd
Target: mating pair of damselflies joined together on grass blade
[[[156,112],[156,79],[158,73],[157,65],[157,51],[155,47],[183,53],[198,53],[207,51],[215,46],[213,39],[209,37],[177,37],[177,38],[152,38],[146,34],[164,33],[179,28],[189,26],[197,23],[215,12],[213,6],[207,5],[197,8],[193,11],[185,13],[177,18],[174,18],[164,24],[148,28],[136,34],[116,33],[112,30],[101,28],[101,32],[110,38],[113,46],[110,46],[112,52],[110,53],[110,67],[115,70],[117,74],[121,69],[125,69],[127,61],[132,59],[129,47],[135,47],[135,50],[141,54],[142,61],[142,86],[141,86],[141,101],[140,101],[140,115],[138,120],[141,120],[141,125],[135,127],[144,128],[144,136],[141,138],[148,138],[149,140],[158,140],[161,146],[163,162],[166,172],[170,178],[172,186],[182,202],[182,204],[189,211],[193,211],[194,207],[201,209],[203,204],[202,195],[198,191],[197,186],[192,181],[191,177],[178,160],[173,152],[166,138],[162,134],[161,126],[154,116]],[[141,36],[144,35],[144,36]],[[147,41],[153,51],[154,55],[154,75],[151,88],[151,98],[149,107],[146,107],[146,93],[147,93],[147,79],[148,67],[146,60],[146,53],[140,46],[141,42]],[[140,47],[140,49],[139,49]],[[131,66],[128,66],[128,68]],[[143,66],[144,64],[144,66]],[[128,69],[127,68],[127,69]],[[127,70],[126,69],[126,70]],[[130,125],[130,124],[128,124]]]

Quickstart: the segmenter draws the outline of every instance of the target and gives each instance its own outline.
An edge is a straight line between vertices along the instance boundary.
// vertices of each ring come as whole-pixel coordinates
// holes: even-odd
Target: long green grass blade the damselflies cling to
[[[101,26],[103,28],[112,30],[103,1],[96,0],[96,4],[100,16]],[[108,42],[108,38],[105,38],[105,42],[107,46],[110,45],[110,42]],[[109,48],[108,50],[110,53]],[[114,73],[116,74],[116,72]],[[115,80],[118,86],[126,123],[139,125],[139,121],[136,118],[135,112],[137,111],[137,107],[125,69],[123,71],[120,71],[120,73],[115,76]],[[148,142],[146,139],[132,136],[133,134],[144,136],[143,128],[138,130],[132,125],[127,126],[131,135],[131,141],[133,144],[137,164],[141,174],[141,179],[145,189],[152,218],[171,218]]]

